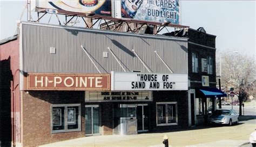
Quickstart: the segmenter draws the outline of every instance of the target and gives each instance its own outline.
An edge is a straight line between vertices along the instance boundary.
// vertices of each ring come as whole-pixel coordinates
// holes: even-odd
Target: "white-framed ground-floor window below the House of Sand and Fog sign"
[[[157,102],[157,126],[177,124],[177,102]]]

